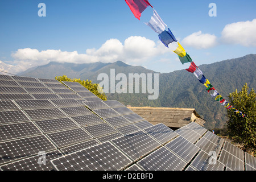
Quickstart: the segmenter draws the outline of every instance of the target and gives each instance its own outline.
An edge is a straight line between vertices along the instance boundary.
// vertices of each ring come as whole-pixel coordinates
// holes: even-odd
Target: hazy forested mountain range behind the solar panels
[[[228,100],[229,93],[238,92],[247,82],[249,88],[256,88],[256,55],[224,60],[213,64],[200,65],[200,70],[210,81],[214,88]],[[97,76],[106,73],[110,76],[110,69],[118,73],[156,73],[141,66],[134,67],[117,61],[115,63],[90,63],[72,64],[51,62],[47,65],[30,68],[19,76],[30,76],[39,78],[55,78],[67,75],[69,78],[81,78],[81,80],[92,80],[100,82]],[[117,83],[116,81],[115,83]],[[141,92],[140,92],[141,93]],[[185,70],[171,73],[159,73],[159,97],[157,100],[148,100],[148,94],[106,94],[108,100],[118,100],[130,106],[151,107],[186,107],[195,108],[197,113],[204,118],[208,129],[222,128],[226,122],[225,107],[217,103],[209,95],[205,86],[201,84],[193,73]]]

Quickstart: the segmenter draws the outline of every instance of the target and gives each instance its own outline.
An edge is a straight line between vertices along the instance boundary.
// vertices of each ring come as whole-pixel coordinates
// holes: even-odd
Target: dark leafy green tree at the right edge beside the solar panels
[[[234,142],[241,143],[244,150],[256,151],[256,94],[253,89],[250,93],[249,87],[245,84],[241,92],[233,92],[229,95],[229,104],[245,114],[242,117],[239,113],[227,110],[228,133]]]

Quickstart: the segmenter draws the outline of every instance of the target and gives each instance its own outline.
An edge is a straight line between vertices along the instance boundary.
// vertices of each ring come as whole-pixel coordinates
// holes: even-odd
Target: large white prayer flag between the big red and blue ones
[[[156,10],[153,9],[153,15],[148,23],[145,23],[148,27],[152,28],[156,33],[161,34],[166,30],[167,25],[160,18]]]

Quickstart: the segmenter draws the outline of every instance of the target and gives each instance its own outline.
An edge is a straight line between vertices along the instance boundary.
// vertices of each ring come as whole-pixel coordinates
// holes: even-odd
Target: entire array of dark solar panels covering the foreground
[[[1,170],[256,170],[256,158],[192,122],[152,125],[77,82],[0,75]]]

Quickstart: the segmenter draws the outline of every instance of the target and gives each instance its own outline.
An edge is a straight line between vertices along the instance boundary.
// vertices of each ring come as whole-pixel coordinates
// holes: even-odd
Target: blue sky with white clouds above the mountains
[[[256,53],[255,0],[148,0],[195,64],[210,64]],[[42,6],[46,5],[46,16]],[[210,3],[216,15],[209,16]],[[165,47],[125,0],[0,0],[0,61],[10,73],[59,63],[113,63],[121,60],[168,73],[188,68]]]

